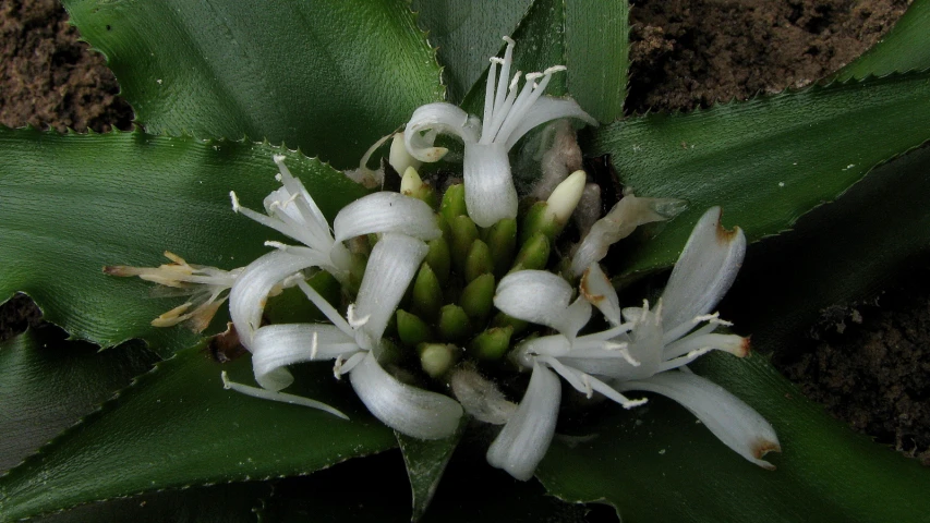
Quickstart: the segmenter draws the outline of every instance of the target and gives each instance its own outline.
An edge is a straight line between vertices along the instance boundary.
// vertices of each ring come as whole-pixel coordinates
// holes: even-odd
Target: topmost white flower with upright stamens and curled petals
[[[527,74],[523,88],[519,89],[521,72],[509,80],[515,42],[508,37],[504,39],[507,41],[504,58],[491,59],[483,121],[450,104],[430,104],[413,112],[404,131],[407,149],[421,161],[437,161],[445,156],[445,148],[433,146],[438,133],[454,134],[464,143],[466,206],[480,227],[517,217],[517,190],[507,151],[524,134],[559,118],[597,124],[576,101],[542,96],[552,75],[565,71],[561,65]]]

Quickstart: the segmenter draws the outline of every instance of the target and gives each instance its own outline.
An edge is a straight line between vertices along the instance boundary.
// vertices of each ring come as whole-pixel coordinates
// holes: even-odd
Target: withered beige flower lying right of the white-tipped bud
[[[674,198],[639,198],[626,194],[606,216],[595,221],[571,257],[572,277],[577,278],[592,264],[604,259],[611,245],[629,236],[637,227],[653,221],[671,220],[685,210],[684,200]]]

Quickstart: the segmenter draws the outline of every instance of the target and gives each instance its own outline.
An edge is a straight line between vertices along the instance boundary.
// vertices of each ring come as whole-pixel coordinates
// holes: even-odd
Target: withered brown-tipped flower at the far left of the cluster
[[[186,321],[191,330],[202,332],[229,297],[227,291],[242,272],[242,267],[222,270],[205,265],[191,265],[184,262],[184,258],[168,251],[165,252],[165,257],[171,263],[158,267],[110,265],[104,267],[104,272],[121,277],[137,276],[176,291],[161,291],[159,292],[161,295],[190,296],[186,302],[153,319],[152,326],[171,327]]]

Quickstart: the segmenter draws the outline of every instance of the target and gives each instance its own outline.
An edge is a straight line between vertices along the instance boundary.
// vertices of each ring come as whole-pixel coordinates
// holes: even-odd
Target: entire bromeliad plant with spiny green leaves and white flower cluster
[[[67,1],[143,130],[0,131],[0,285],[108,348],[0,349],[0,518],[406,519],[399,463],[323,471],[392,447],[414,518],[583,518],[510,476],[632,521],[926,513],[759,353],[926,248],[927,2],[832,83],[627,118],[626,3],[529,3]]]

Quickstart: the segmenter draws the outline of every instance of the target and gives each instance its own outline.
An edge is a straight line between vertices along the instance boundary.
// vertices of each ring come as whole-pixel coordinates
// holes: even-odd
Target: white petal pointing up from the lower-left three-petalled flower
[[[388,320],[428,251],[420,240],[396,233],[385,234],[375,244],[355,301],[355,317],[367,317],[357,336],[363,349],[377,348]]]

